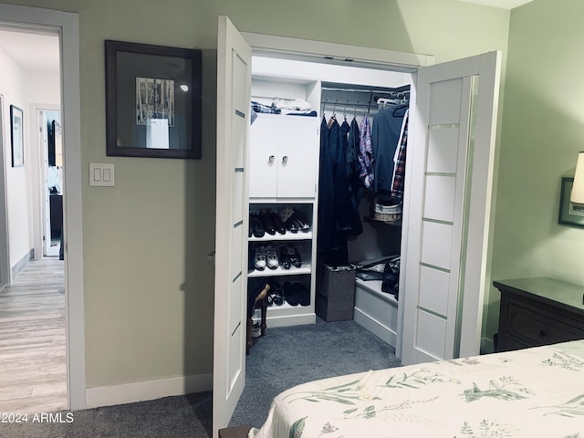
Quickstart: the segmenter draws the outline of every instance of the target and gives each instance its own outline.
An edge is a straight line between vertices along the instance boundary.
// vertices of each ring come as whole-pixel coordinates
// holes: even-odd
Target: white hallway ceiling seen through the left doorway
[[[56,34],[0,29],[0,50],[26,71],[58,74],[59,39]]]

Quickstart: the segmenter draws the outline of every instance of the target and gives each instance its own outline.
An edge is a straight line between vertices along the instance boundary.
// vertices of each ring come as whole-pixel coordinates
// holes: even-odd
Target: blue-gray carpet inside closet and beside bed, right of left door
[[[261,426],[272,399],[307,381],[397,367],[395,350],[353,321],[267,328],[245,361],[245,390],[230,425]]]

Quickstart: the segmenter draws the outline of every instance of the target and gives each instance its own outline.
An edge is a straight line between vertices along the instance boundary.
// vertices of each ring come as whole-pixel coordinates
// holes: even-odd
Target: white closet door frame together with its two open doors
[[[406,162],[406,193],[403,203],[404,239],[401,257],[406,267],[405,273],[401,275],[400,287],[405,297],[400,299],[400,336],[397,339],[397,352],[401,354],[402,360],[419,361],[418,356],[424,354],[428,357],[459,354],[454,349],[458,349],[461,354],[468,349],[478,350],[478,339],[474,338],[477,338],[477,331],[480,336],[482,293],[485,288],[483,262],[487,253],[485,235],[489,228],[497,112],[495,95],[498,93],[500,54],[493,52],[423,68],[425,64],[431,64],[431,60],[414,54],[276,36],[242,36],[228,18],[220,17],[217,199],[230,199],[232,204],[217,205],[216,266],[221,268],[215,271],[215,432],[228,423],[245,385],[245,336],[242,328],[245,328],[246,290],[243,285],[246,282],[242,281],[242,276],[247,272],[247,260],[245,255],[241,255],[241,249],[245,248],[246,236],[242,230],[246,228],[248,213],[245,207],[248,193],[245,168],[249,152],[244,120],[250,99],[250,46],[256,47],[254,54],[267,54],[269,57],[313,61],[317,59],[317,62],[328,63],[339,59],[339,64],[349,62],[349,59],[352,60],[352,66],[417,73],[412,86],[410,144],[413,146],[409,146],[409,149],[412,148],[412,159],[408,158]],[[327,54],[324,58],[321,55],[323,53]],[[286,75],[282,73],[282,76]],[[480,88],[476,87],[478,77]],[[461,107],[461,101],[466,102],[466,107]],[[232,143],[235,139],[236,142]],[[454,149],[448,147],[453,144]],[[427,168],[426,158],[437,151],[436,147],[438,151],[443,151],[443,148],[454,151],[454,155],[451,155],[454,161],[446,162],[452,164],[461,158],[461,167],[454,172],[444,172],[439,166]],[[234,157],[231,160],[230,150]],[[467,154],[467,151],[470,153]],[[439,158],[444,156],[442,153],[438,155]],[[429,162],[436,164],[430,158]],[[429,208],[431,200],[426,198],[427,188],[432,184],[429,177],[450,178],[433,185],[449,187],[445,193],[450,202],[444,202],[444,205],[452,205],[451,210],[456,214],[450,220],[442,218],[443,212],[440,209],[437,217],[425,214],[432,211]],[[453,180],[458,184],[453,184]],[[458,187],[459,190],[450,190],[453,185],[454,189]],[[430,230],[431,228],[433,229]],[[428,239],[432,236],[438,237],[438,240]],[[436,247],[446,250],[435,253],[432,250]],[[237,255],[237,248],[240,255]],[[460,257],[457,266],[443,266],[444,260],[454,261],[456,256]],[[427,263],[426,260],[433,263]],[[461,264],[462,269],[459,266]],[[449,281],[442,283],[442,292],[448,297],[449,292],[454,290],[454,294],[449,297],[454,302],[454,309],[448,310],[454,312],[450,315],[452,318],[433,311],[432,303],[424,301],[426,297],[421,291],[423,292],[425,286],[421,283],[427,282],[432,276],[423,274],[422,267],[448,277]],[[461,316],[464,318],[458,318]],[[449,318],[452,320],[448,320]],[[405,324],[404,319],[407,319]],[[428,333],[442,332],[443,336],[438,336],[441,342],[446,338],[449,342],[457,342],[449,338],[449,330],[458,331],[460,335],[462,325],[467,328],[465,335],[469,339],[463,342],[459,337],[460,345],[444,345],[442,350],[439,346],[438,351],[425,349],[426,344],[432,344],[436,339],[428,338]]]

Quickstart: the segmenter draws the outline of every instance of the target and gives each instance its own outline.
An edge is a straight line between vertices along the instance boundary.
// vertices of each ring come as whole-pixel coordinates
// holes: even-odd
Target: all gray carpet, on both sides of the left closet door
[[[272,398],[305,381],[400,365],[394,351],[355,322],[268,328],[246,359],[245,391],[231,425],[265,422]],[[212,393],[61,412],[63,422],[0,424],[2,438],[208,438]],[[68,422],[72,415],[73,422]]]

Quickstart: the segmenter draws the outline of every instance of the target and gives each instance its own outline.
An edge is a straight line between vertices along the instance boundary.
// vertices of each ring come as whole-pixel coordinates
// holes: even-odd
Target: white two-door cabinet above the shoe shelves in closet
[[[251,126],[250,198],[314,198],[318,117],[259,114]]]

